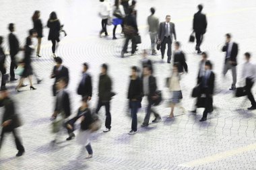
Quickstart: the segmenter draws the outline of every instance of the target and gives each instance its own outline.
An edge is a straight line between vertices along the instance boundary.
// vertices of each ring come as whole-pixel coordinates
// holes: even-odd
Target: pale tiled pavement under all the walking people
[[[1,0],[0,34],[7,35],[7,24],[14,22],[18,37],[24,42],[26,32],[31,28],[31,15],[34,10],[42,11],[42,21],[46,24],[49,13],[57,11],[61,22],[65,24],[68,36],[63,38],[57,51],[69,67],[71,83],[69,91],[72,95],[72,109],[79,106],[80,97],[75,94],[80,79],[82,62],[90,63],[90,73],[93,75],[94,95],[90,103],[96,106],[96,94],[100,65],[108,62],[110,76],[113,77],[114,91],[118,93],[111,102],[113,128],[104,134],[98,131],[93,135],[92,147],[94,157],[86,160],[86,151],[75,143],[63,142],[58,146],[50,146],[53,139],[51,122],[54,98],[51,96],[53,80],[49,75],[53,69],[51,44],[47,41],[48,30],[44,30],[42,41],[42,58],[34,58],[34,69],[44,81],[35,85],[35,91],[24,88],[22,93],[15,93],[15,83],[10,83],[11,94],[18,103],[18,112],[23,118],[24,126],[20,128],[22,140],[26,148],[23,157],[15,158],[13,138],[8,135],[0,155],[0,169],[256,169],[255,157],[255,124],[256,112],[247,112],[249,101],[244,98],[234,98],[228,91],[231,83],[230,73],[225,79],[221,77],[224,54],[220,48],[224,43],[224,34],[230,32],[234,41],[240,46],[238,73],[243,63],[243,53],[252,52],[255,60],[255,9],[254,0],[139,0],[138,23],[143,44],[139,49],[150,48],[150,40],[146,29],[146,16],[149,8],[156,7],[156,14],[161,20],[167,13],[172,15],[176,24],[178,40],[182,42],[187,54],[189,74],[181,81],[183,89],[183,106],[187,110],[193,107],[190,97],[195,85],[195,77],[200,57],[194,53],[194,44],[187,42],[191,33],[192,16],[196,5],[203,2],[209,22],[207,34],[202,49],[210,54],[217,74],[216,95],[214,105],[216,110],[209,115],[207,122],[199,122],[202,110],[197,115],[176,110],[174,120],[166,120],[170,112],[164,103],[156,109],[162,116],[162,122],[150,124],[149,128],[139,128],[134,136],[129,136],[131,120],[126,113],[126,94],[131,65],[139,65],[139,54],[119,58],[123,39],[111,40],[112,37],[98,38],[100,19],[97,17],[98,1],[43,1],[43,0]],[[111,32],[108,27],[108,32]],[[22,43],[23,44],[23,43]],[[6,50],[7,46],[5,45]],[[160,56],[150,56],[158,61]],[[9,66],[9,60],[7,65]],[[170,75],[170,65],[155,64],[158,88],[164,88],[164,79]],[[240,75],[240,74],[238,74]],[[238,79],[241,81],[241,79]],[[104,110],[100,113],[104,120]],[[2,113],[2,112],[1,112]],[[139,123],[144,112],[138,114]]]

